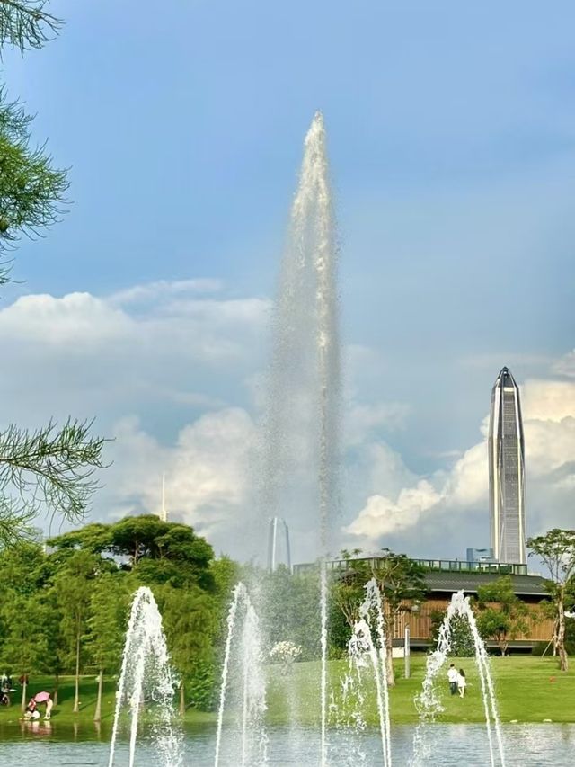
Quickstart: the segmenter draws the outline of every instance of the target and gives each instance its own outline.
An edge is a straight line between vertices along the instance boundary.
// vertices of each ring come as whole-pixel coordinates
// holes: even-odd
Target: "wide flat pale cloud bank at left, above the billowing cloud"
[[[177,425],[190,408],[245,405],[242,382],[261,364],[270,302],[215,297],[216,287],[155,282],[104,298],[24,296],[2,308],[4,423],[73,412],[99,415],[108,429],[133,413],[158,421],[168,407],[163,420]]]

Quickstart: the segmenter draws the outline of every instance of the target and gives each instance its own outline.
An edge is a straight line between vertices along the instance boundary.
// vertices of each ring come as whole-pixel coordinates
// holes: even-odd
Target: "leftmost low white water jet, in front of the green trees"
[[[130,713],[129,767],[134,767],[138,718],[140,709],[148,700],[154,706],[151,730],[158,763],[161,767],[180,767],[181,735],[175,727],[173,712],[175,686],[162,629],[162,616],[154,594],[146,586],[141,586],[134,594],[128,622],[116,692],[108,767],[113,767],[119,718],[125,704],[128,704]]]

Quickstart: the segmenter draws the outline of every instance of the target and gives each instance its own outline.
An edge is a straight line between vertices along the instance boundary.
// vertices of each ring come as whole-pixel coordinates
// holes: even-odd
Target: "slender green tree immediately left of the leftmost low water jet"
[[[98,695],[93,720],[102,718],[102,685],[104,673],[114,673],[121,660],[128,622],[129,593],[121,573],[104,573],[93,581],[90,597],[90,634],[87,645],[98,668]]]

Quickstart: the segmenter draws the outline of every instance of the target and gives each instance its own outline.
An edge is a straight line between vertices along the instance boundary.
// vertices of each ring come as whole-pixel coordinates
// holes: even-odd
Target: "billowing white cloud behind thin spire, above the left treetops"
[[[250,465],[256,429],[238,407],[201,415],[183,426],[173,444],[162,444],[136,417],[114,430],[111,469],[114,515],[158,513],[165,474],[166,506],[174,520],[187,522],[214,542],[237,534],[240,510],[251,493]]]

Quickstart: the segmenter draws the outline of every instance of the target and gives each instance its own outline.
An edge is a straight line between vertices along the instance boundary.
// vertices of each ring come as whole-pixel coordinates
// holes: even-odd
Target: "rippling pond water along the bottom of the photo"
[[[288,728],[270,729],[270,767],[279,765],[316,765],[319,753],[319,735],[315,730],[290,732]],[[91,765],[107,767],[108,738],[90,739],[90,731],[52,727],[50,732],[40,728],[34,732],[20,728],[3,727],[3,764]],[[575,725],[506,725],[503,727],[508,767],[571,767],[575,763]],[[408,765],[411,759],[413,727],[396,726],[392,733],[394,765]],[[433,725],[431,737],[437,745],[429,761],[433,765],[457,767],[489,767],[485,728],[480,725]],[[75,738],[70,739],[70,738]],[[185,767],[208,767],[214,763],[215,732],[213,728],[188,731],[185,736]],[[380,765],[381,744],[376,730],[367,730],[349,739],[348,733],[330,733],[330,763],[332,767],[344,765]],[[234,753],[230,753],[230,751]],[[223,749],[222,767],[238,767],[236,749]],[[137,767],[158,767],[157,754],[144,737],[137,750]],[[427,763],[426,763],[427,764]],[[119,743],[117,767],[128,765],[128,746]]]

